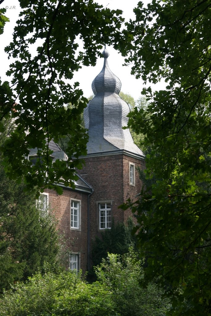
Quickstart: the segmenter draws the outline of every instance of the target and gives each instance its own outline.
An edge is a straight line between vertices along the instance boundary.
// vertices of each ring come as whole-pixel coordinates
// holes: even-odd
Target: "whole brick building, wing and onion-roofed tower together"
[[[129,106],[119,96],[121,82],[109,69],[107,49],[104,64],[92,82],[94,98],[84,110],[89,142],[75,189],[64,187],[58,196],[45,190],[44,200],[59,220],[59,230],[69,242],[70,268],[90,269],[91,240],[114,222],[127,222],[130,211],[118,209],[128,197],[140,192],[137,168],[144,168],[144,154],[134,144],[127,126]],[[51,143],[53,157],[65,159],[65,153]]]

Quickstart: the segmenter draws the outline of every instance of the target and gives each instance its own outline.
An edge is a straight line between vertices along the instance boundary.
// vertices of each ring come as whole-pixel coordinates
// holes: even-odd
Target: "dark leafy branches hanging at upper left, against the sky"
[[[23,11],[13,42],[5,48],[15,58],[7,72],[12,85],[2,84],[0,99],[0,120],[11,116],[18,99],[17,112],[12,114],[17,127],[2,146],[3,163],[13,179],[25,176],[29,189],[61,181],[70,185],[74,168],[80,167],[78,157],[86,153],[87,135],[80,114],[87,100],[78,82],[71,85],[69,80],[81,64],[96,63],[102,44],[111,44],[123,21],[121,10],[102,9],[92,0],[19,2]],[[83,51],[78,49],[78,37]],[[33,49],[37,49],[35,55]],[[68,103],[72,108],[66,111]],[[65,135],[71,135],[69,159],[53,164],[49,142]],[[26,159],[31,148],[39,148],[41,157],[34,166]]]

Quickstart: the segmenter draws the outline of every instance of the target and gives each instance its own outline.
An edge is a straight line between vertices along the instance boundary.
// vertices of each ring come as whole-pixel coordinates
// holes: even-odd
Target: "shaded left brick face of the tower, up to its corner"
[[[101,156],[85,159],[81,176],[93,187],[90,196],[90,238],[99,231],[97,201],[112,201],[114,221],[123,221],[123,211],[118,206],[123,200],[122,156]]]

